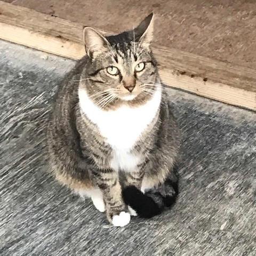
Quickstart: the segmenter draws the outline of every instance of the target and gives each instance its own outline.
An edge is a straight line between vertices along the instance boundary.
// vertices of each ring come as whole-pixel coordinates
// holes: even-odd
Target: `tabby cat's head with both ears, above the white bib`
[[[89,57],[81,86],[101,108],[138,105],[147,101],[159,86],[157,63],[151,52],[153,13],[138,27],[105,37],[90,27],[83,30]]]

